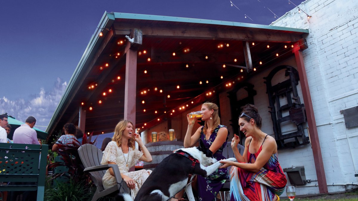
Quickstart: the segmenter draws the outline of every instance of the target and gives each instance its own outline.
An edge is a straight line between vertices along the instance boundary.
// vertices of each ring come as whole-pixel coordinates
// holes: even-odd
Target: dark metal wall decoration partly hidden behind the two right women
[[[241,83],[235,85],[235,88],[228,92],[228,97],[230,100],[230,109],[231,109],[231,119],[232,122],[230,125],[232,126],[233,132],[235,134],[240,133],[240,144],[243,143],[242,138],[245,137],[245,135],[240,131],[240,126],[238,123],[239,115],[241,112],[241,108],[245,106],[246,104],[253,104],[253,97],[256,95],[256,91],[253,89],[254,85],[250,83]],[[238,99],[237,97],[237,91],[241,88],[245,89],[247,91],[248,96],[242,99]],[[239,97],[240,98],[240,97]]]

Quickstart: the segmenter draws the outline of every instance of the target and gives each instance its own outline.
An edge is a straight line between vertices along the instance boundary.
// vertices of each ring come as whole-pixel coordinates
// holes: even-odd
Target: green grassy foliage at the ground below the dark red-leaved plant
[[[46,201],[87,201],[91,200],[94,191],[86,187],[84,182],[58,183],[54,188],[45,191]]]

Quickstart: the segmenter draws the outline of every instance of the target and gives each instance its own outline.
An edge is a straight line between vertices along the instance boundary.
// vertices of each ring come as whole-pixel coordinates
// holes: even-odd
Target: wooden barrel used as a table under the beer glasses
[[[152,162],[144,162],[143,169],[154,170],[155,167],[169,154],[173,153],[175,149],[184,148],[184,143],[180,141],[161,141],[151,142],[145,145],[152,155]]]

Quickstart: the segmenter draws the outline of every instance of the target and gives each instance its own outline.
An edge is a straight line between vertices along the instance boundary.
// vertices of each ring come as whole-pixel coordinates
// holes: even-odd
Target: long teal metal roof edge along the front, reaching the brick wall
[[[158,21],[174,21],[174,22],[184,22],[184,23],[216,24],[216,25],[241,26],[247,28],[272,29],[272,30],[280,30],[280,31],[295,31],[301,33],[309,33],[308,29],[287,28],[282,26],[250,24],[250,23],[240,23],[240,22],[231,22],[231,21],[182,18],[182,17],[161,16],[161,15],[144,15],[144,14],[132,14],[132,13],[112,12],[111,14],[113,14],[115,18],[118,19],[158,20]]]

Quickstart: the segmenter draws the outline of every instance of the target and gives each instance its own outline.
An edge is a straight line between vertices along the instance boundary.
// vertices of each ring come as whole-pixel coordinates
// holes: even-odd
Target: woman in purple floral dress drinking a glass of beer
[[[199,138],[201,138],[205,147],[209,148],[213,152],[214,158],[219,161],[225,159],[222,152],[226,146],[229,132],[226,126],[220,124],[218,109],[218,106],[214,103],[206,102],[202,105],[201,111],[203,116],[201,118],[202,121],[205,121],[205,124],[200,126],[193,135],[192,131],[196,117],[190,118],[189,114],[187,114],[188,129],[184,138],[184,147],[193,147],[199,141]],[[197,175],[192,182],[193,191],[198,195],[198,200],[212,201],[228,178],[227,168],[218,169],[208,177]],[[184,191],[175,195],[172,201],[181,198],[183,193]]]

